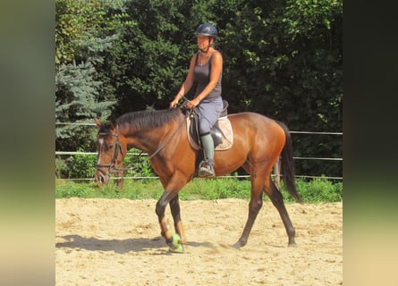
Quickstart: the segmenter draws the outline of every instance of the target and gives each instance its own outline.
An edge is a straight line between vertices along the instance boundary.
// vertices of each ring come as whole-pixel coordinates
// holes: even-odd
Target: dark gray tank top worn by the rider
[[[194,80],[198,81],[198,86],[195,91],[195,97],[202,92],[203,89],[206,88],[208,81],[210,79],[210,70],[211,70],[211,58],[213,55],[210,55],[207,63],[203,65],[199,65],[198,63],[199,53],[196,54],[195,60],[195,68],[193,70]],[[221,80],[223,79],[223,71],[221,71],[220,77],[216,83],[216,87],[210,92],[210,94],[206,98],[216,98],[221,97]]]

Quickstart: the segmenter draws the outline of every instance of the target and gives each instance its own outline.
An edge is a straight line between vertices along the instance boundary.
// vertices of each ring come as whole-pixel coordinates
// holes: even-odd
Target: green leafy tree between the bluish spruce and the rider
[[[210,17],[213,1],[139,1],[126,3],[136,25],[123,35],[108,58],[106,70],[117,67],[115,115],[148,107],[166,108],[180,88],[197,49],[193,31]],[[206,18],[208,19],[208,18]]]

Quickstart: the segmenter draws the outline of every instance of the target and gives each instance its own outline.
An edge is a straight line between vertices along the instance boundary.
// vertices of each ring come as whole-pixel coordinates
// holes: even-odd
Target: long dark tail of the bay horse
[[[284,149],[281,154],[282,168],[283,168],[283,180],[286,189],[292,195],[293,198],[296,199],[297,202],[302,202],[300,194],[297,192],[296,182],[295,182],[295,168],[293,161],[293,145],[292,138],[290,136],[289,129],[284,124],[284,122],[278,122],[279,125],[284,130],[284,134],[286,135],[286,142],[284,143]]]

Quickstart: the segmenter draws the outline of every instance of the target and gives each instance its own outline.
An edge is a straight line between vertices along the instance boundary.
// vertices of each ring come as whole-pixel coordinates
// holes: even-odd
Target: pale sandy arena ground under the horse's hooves
[[[156,200],[55,200],[57,286],[343,285],[343,203],[288,204],[297,247],[268,201],[248,244],[241,236],[248,201],[181,201],[187,244],[168,252]],[[172,220],[169,207],[167,217]]]

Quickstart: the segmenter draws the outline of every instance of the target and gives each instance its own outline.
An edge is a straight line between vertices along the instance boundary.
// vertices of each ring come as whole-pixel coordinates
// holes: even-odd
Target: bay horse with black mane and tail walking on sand
[[[186,114],[181,108],[138,111],[123,114],[110,122],[99,122],[97,127],[97,185],[107,184],[111,172],[119,177],[117,185],[123,188],[123,157],[128,148],[135,147],[148,153],[150,164],[165,189],[157,201],[156,214],[161,235],[170,250],[183,252],[186,242],[182,227],[178,193],[195,177],[199,151],[191,147],[186,128]],[[284,206],[284,199],[271,180],[275,162],[281,156],[283,180],[286,189],[301,202],[294,181],[292,139],[283,122],[277,122],[256,113],[228,114],[233,128],[233,147],[216,151],[214,169],[222,176],[242,167],[250,174],[249,215],[241,238],[233,245],[241,248],[248,242],[251,228],[261,208],[265,192],[279,212],[288,236],[288,246],[295,245],[295,230]],[[174,231],[165,217],[170,206]]]

